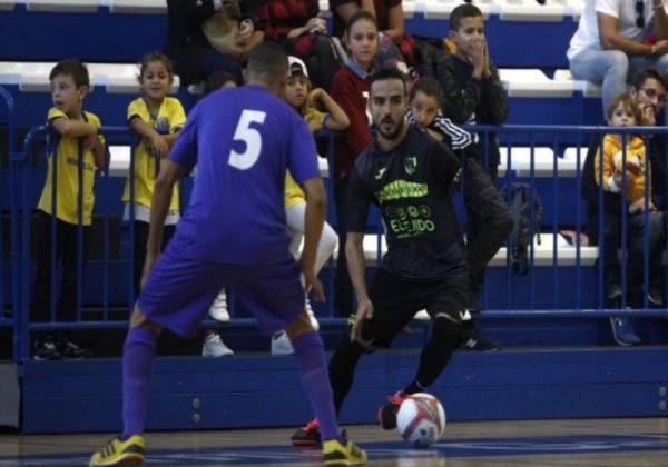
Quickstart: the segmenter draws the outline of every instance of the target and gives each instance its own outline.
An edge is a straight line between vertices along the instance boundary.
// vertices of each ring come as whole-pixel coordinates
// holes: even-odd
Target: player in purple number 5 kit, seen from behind
[[[314,272],[326,197],[313,137],[304,120],[276,98],[287,56],[263,43],[248,58],[247,86],[222,89],[197,103],[156,181],[143,289],[122,356],[122,434],[92,455],[90,466],[144,461],[143,437],[156,339],[167,328],[195,334],[224,285],[253,311],[261,329],[285,329],[311,407],[322,429],[325,465],[361,465],[366,454],[338,433],[323,342],[304,309],[299,272],[324,300]],[[160,256],[171,189],[197,163],[190,205]],[[285,171],[306,195],[299,264],[288,250],[283,207]],[[323,421],[321,421],[321,426]],[[135,464],[132,464],[135,465]]]

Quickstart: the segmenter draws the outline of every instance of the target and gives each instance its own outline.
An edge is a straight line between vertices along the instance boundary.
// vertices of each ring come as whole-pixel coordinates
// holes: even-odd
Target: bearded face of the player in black
[[[371,116],[381,137],[396,139],[404,128],[406,91],[403,81],[385,79],[371,86]]]

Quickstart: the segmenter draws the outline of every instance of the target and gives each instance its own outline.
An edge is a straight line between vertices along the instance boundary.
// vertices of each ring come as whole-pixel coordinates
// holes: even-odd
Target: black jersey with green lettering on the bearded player
[[[412,125],[391,152],[372,142],[351,177],[347,230],[366,230],[373,203],[385,223],[383,267],[391,274],[414,280],[465,274],[465,247],[452,205],[459,172],[452,151]]]

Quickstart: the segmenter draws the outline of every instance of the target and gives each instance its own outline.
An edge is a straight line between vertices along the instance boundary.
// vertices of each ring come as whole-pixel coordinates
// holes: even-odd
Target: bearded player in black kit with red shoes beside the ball
[[[345,245],[357,312],[330,360],[330,380],[338,413],[362,355],[389,347],[415,311],[426,308],[431,335],[415,377],[379,409],[381,427],[393,429],[401,403],[428,390],[459,347],[468,267],[452,206],[459,162],[444,145],[405,121],[406,83],[395,68],[371,77],[370,110],[377,131],[351,169]],[[367,287],[363,239],[371,205],[380,208],[389,240]],[[320,443],[318,421],[298,429],[293,444]]]

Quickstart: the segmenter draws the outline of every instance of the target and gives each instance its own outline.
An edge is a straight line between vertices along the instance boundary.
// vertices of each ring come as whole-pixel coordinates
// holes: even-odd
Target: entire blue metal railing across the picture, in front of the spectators
[[[488,277],[483,291],[483,316],[492,318],[513,318],[513,317],[567,317],[567,318],[591,318],[591,317],[611,317],[611,316],[647,316],[658,317],[668,316],[665,308],[650,308],[645,298],[640,309],[626,310],[618,307],[607,307],[605,300],[603,285],[603,265],[598,259],[601,257],[602,235],[599,235],[599,247],[588,247],[582,244],[581,236],[576,235],[572,244],[564,244],[562,230],[569,228],[577,234],[583,231],[584,207],[580,198],[581,188],[581,167],[584,160],[584,150],[582,146],[591,138],[601,138],[606,131],[605,127],[539,127],[539,126],[507,126],[507,127],[475,127],[474,130],[480,135],[483,147],[489,147],[492,135],[498,135],[498,140],[502,148],[508,150],[502,155],[498,185],[508,185],[513,181],[524,180],[531,187],[534,196],[539,193],[543,198],[546,217],[541,231],[544,234],[544,240],[541,246],[533,245],[528,250],[529,274],[520,276],[512,268],[511,256],[508,248],[497,255],[488,267]],[[640,133],[666,135],[668,129],[659,128],[626,128],[616,129],[616,133]],[[30,163],[32,155],[39,145],[49,145],[49,129],[45,127],[32,129],[26,137],[22,155],[16,155],[12,159],[17,161],[17,175],[21,176],[20,187],[13,187],[14,196],[12,198],[12,232],[17,232],[20,221],[21,238],[17,238],[20,245],[20,261],[12,261],[12,268],[16,267],[14,277],[14,304],[18,304],[19,312],[14,311],[14,358],[17,360],[29,357],[29,337],[33,331],[58,330],[58,329],[105,329],[120,328],[127,326],[127,318],[131,311],[135,294],[132,291],[132,223],[129,222],[121,235],[127,236],[126,248],[121,248],[120,259],[110,259],[108,255],[110,244],[110,232],[108,225],[105,226],[102,235],[101,257],[89,264],[87,270],[84,270],[81,261],[78,264],[78,284],[77,284],[77,319],[75,321],[59,321],[55,312],[55,300],[51,300],[50,320],[47,322],[30,322],[30,289],[32,286],[32,260],[30,254],[31,238],[31,213],[36,206],[33,193],[30,187],[35,185],[35,170]],[[137,142],[136,135],[127,127],[102,127],[100,133],[107,138],[108,145],[125,145],[135,147]],[[324,133],[328,138],[330,159],[333,153],[333,136]],[[546,142],[547,141],[547,142]],[[549,148],[551,156],[541,156],[541,148]],[[569,148],[576,148],[574,152],[566,155]],[[51,149],[52,150],[52,149]],[[47,151],[49,149],[47,148]],[[521,153],[524,151],[525,153]],[[543,151],[544,152],[544,151]],[[134,153],[134,151],[132,151]],[[331,163],[333,170],[333,165]],[[129,161],[129,176],[134,178],[134,157]],[[567,173],[567,175],[564,175]],[[122,178],[125,180],[125,177]],[[333,200],[333,178],[326,181],[330,199]],[[465,180],[464,180],[465,182]],[[130,199],[135,199],[134,182],[130,182]],[[114,190],[114,180],[104,172],[96,182],[98,195],[104,190]],[[121,191],[118,190],[118,199]],[[602,192],[599,193],[602,200]],[[18,199],[21,200],[20,205]],[[81,202],[79,200],[79,202]],[[461,201],[458,201],[461,211]],[[330,202],[330,209],[333,210],[333,202]],[[186,203],[181,205],[187,206]],[[532,206],[532,203],[531,203]],[[566,207],[564,207],[566,206]],[[601,203],[602,206],[602,203]],[[16,207],[16,209],[14,209]],[[20,207],[21,216],[18,216]],[[185,208],[187,209],[187,208]],[[117,212],[120,217],[120,212]],[[601,209],[600,219],[603,211]],[[331,216],[330,216],[331,217]],[[463,216],[462,216],[463,217]],[[622,216],[622,225],[626,226],[626,217]],[[647,217],[647,216],[646,216]],[[134,212],[130,215],[134,218]],[[106,218],[105,218],[106,219]],[[463,220],[463,219],[462,219]],[[107,220],[105,220],[107,221]],[[80,222],[79,222],[80,223]],[[601,222],[602,225],[602,222]],[[53,225],[51,227],[55,229]],[[80,232],[81,227],[79,227]],[[622,229],[623,231],[625,229]],[[377,232],[377,238],[367,251],[367,260],[376,266],[381,261],[382,225],[380,222],[370,226],[370,230]],[[533,237],[533,231],[531,236]],[[12,234],[13,238],[13,234]],[[79,234],[79,240],[81,234]],[[647,247],[648,239],[645,239]],[[371,245],[371,244],[370,244]],[[664,249],[667,244],[664,244]],[[81,245],[79,245],[79,259],[81,258]],[[626,277],[626,248],[621,249],[621,277]],[[343,248],[340,246],[340,254]],[[55,260],[55,252],[51,254]],[[647,248],[645,249],[645,272],[644,282],[647,285]],[[375,260],[374,260],[375,259]],[[55,261],[51,262],[55,265]],[[331,262],[330,266],[333,264]],[[55,266],[52,271],[56,272]],[[330,271],[331,272],[331,271]],[[127,275],[127,277],[126,277]],[[16,278],[20,277],[20,280]],[[97,279],[97,282],[94,280]],[[127,279],[127,280],[126,280]],[[121,282],[119,294],[115,290],[119,287],[111,287]],[[94,287],[89,288],[88,284]],[[126,286],[122,286],[122,282]],[[87,284],[87,291],[90,296],[90,289],[95,289],[92,300],[85,298],[84,284]],[[626,282],[622,281],[622,289],[626,292]],[[327,280],[328,302],[324,309],[321,308],[318,319],[323,324],[341,324],[341,318],[333,306],[333,275],[330,274]],[[662,289],[666,290],[668,284],[664,281]],[[51,292],[55,294],[55,286]],[[234,291],[233,291],[234,295]],[[18,298],[18,301],[17,301]],[[55,298],[55,297],[53,297]],[[254,324],[254,319],[248,314],[239,312],[234,300],[230,300],[232,326],[247,326]],[[323,312],[324,311],[324,312]]]

